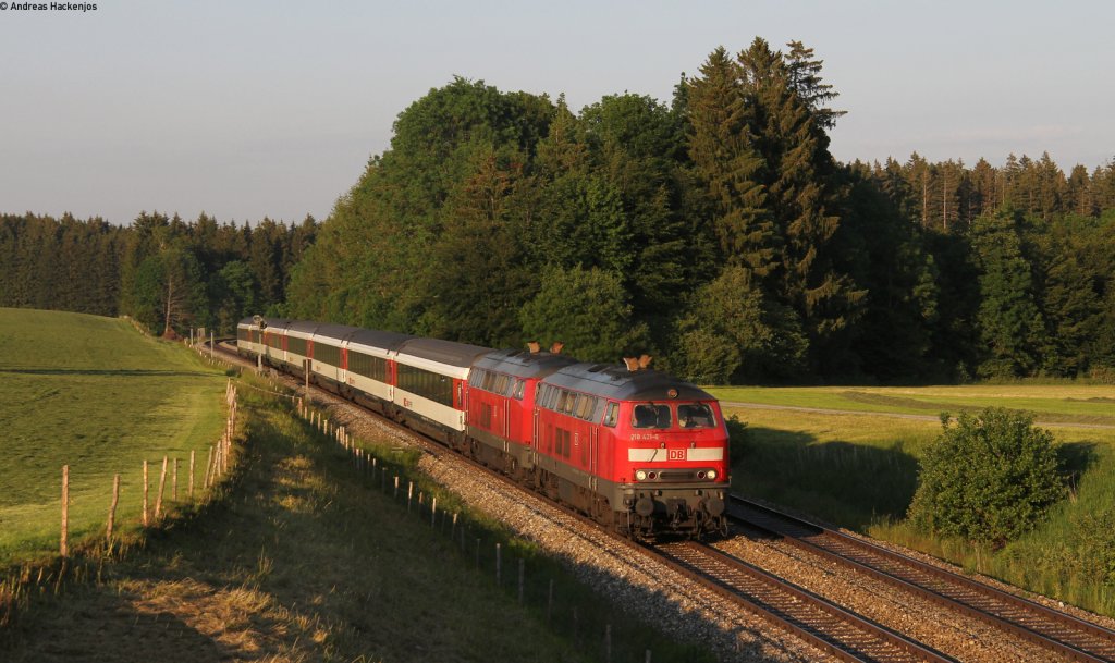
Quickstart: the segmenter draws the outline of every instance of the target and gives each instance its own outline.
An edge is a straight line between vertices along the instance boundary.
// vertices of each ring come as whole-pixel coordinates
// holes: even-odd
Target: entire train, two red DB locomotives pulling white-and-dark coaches
[[[707,392],[646,361],[583,363],[395,332],[252,319],[237,348],[636,538],[724,533],[728,433]]]

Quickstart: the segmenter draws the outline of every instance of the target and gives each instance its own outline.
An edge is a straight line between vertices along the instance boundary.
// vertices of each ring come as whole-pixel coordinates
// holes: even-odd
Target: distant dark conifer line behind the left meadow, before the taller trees
[[[103,218],[0,215],[0,306],[128,314],[156,333],[192,326],[231,333],[255,313],[278,314],[291,267],[318,223],[270,218],[220,224],[202,214]]]

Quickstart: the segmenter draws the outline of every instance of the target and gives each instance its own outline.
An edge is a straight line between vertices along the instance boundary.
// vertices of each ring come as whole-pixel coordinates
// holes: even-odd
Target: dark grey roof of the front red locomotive
[[[617,363],[573,364],[549,376],[543,382],[613,400],[714,400],[704,389],[669,373],[629,371]],[[672,398],[670,390],[677,392]]]

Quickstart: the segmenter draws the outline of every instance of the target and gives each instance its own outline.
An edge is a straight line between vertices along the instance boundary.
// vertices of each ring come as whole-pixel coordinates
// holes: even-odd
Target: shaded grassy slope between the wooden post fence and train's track
[[[246,464],[224,501],[106,564],[98,583],[36,602],[0,659],[600,661],[612,624],[613,660],[641,661],[647,649],[656,661],[714,660],[663,640],[532,546],[465,513],[416,474],[416,451],[361,442],[379,460],[372,478],[289,406],[248,387],[241,402]],[[398,498],[385,467],[403,477]]]

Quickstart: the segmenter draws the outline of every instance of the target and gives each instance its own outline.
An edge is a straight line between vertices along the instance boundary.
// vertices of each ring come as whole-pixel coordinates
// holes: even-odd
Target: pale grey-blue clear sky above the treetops
[[[0,213],[323,220],[454,76],[669,103],[755,37],[824,60],[838,160],[1115,158],[1109,0],[22,4],[0,0]]]

